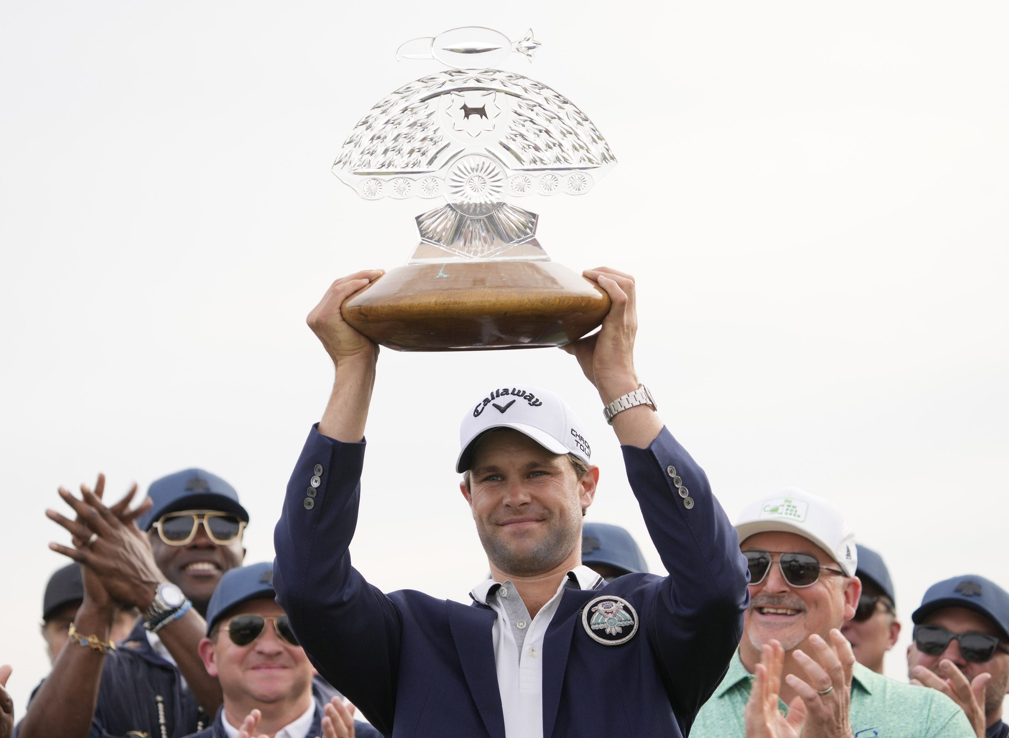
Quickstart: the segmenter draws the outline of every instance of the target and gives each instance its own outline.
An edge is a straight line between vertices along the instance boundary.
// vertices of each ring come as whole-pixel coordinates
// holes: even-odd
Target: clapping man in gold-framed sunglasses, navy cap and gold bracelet
[[[105,478],[81,498],[60,495],[77,519],[46,515],[73,536],[49,547],[81,565],[84,600],[52,671],[18,726],[19,738],[181,738],[210,725],[221,688],[198,646],[203,615],[225,572],[241,566],[248,513],[220,477],[188,469],[154,481],[129,510],[136,485],[111,507]],[[146,532],[144,532],[146,531]],[[141,617],[111,642],[118,607]]]

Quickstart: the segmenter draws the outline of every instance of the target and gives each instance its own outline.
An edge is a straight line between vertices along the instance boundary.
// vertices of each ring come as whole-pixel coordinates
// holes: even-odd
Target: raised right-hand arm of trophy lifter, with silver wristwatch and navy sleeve
[[[604,404],[638,388],[635,283],[605,267],[585,272],[609,293],[602,330],[566,347]],[[669,576],[647,623],[665,665],[673,707],[688,724],[717,687],[739,645],[749,605],[739,537],[711,494],[707,476],[649,405],[613,417],[631,488]]]

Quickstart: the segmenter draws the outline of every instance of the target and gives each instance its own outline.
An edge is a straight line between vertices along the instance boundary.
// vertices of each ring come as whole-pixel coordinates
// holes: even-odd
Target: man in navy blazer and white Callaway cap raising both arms
[[[310,658],[384,735],[686,735],[739,642],[746,563],[707,478],[638,382],[634,279],[585,272],[612,306],[599,333],[566,349],[598,390],[670,575],[606,584],[581,566],[599,479],[585,426],[553,392],[488,383],[466,409],[455,466],[492,577],[467,607],[386,595],[351,567],[378,350],[340,305],[380,274],[337,280],[309,316],[336,379],[288,487],[274,587]],[[419,412],[444,404],[431,400]]]

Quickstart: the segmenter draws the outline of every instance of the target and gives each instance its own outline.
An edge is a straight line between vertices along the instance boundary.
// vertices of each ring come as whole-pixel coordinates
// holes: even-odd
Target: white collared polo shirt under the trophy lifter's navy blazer
[[[600,585],[602,577],[591,569],[575,567],[532,619],[511,580],[504,584],[485,580],[469,593],[497,613],[492,637],[506,738],[543,738],[543,639],[547,627],[566,588],[594,590]]]

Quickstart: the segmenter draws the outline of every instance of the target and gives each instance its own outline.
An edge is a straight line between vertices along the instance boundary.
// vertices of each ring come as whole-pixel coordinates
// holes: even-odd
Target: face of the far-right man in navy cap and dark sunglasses
[[[950,633],[984,633],[1004,638],[995,623],[977,610],[966,607],[940,608],[929,613],[922,624],[938,625]],[[950,640],[945,650],[934,656],[919,651],[912,640],[911,645],[907,648],[907,670],[910,673],[915,666],[924,666],[945,679],[945,674],[939,669],[939,662],[943,658],[948,658],[971,682],[978,674],[988,671],[992,674],[992,680],[985,688],[985,713],[989,718],[992,718],[993,715],[1002,714],[1002,701],[1006,696],[1006,690],[1009,689],[1009,653],[1006,653],[1007,649],[1009,649],[1009,645],[1005,640],[1002,640],[1001,647],[995,651],[995,655],[987,661],[979,663],[964,658],[958,640]],[[913,674],[911,679],[913,679]]]

